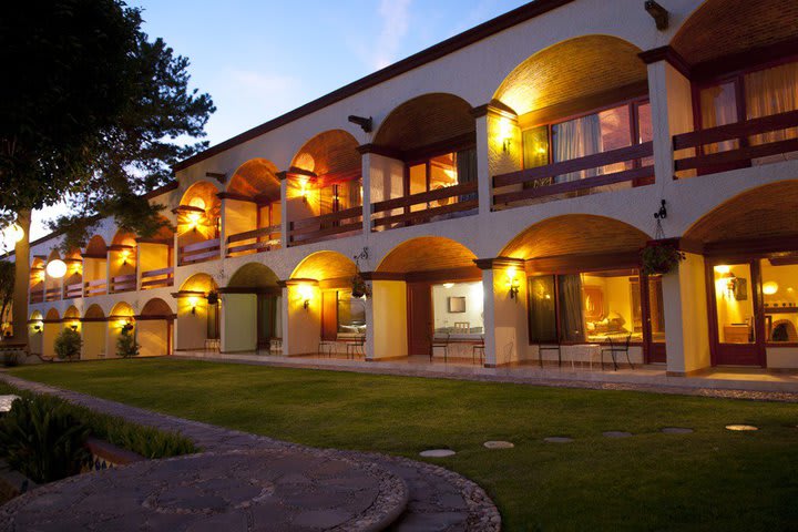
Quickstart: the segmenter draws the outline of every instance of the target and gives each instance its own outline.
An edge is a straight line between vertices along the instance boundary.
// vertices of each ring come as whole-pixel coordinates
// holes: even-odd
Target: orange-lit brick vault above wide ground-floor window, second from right
[[[592,214],[566,214],[539,222],[512,238],[501,256],[536,258],[636,252],[649,236],[615,218]]]

